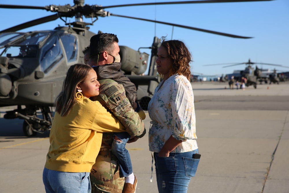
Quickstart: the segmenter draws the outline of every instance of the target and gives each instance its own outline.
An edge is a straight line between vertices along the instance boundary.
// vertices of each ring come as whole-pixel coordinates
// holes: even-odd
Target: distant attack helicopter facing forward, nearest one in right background
[[[240,71],[240,74],[236,75],[234,74],[234,81],[239,81],[242,82],[243,79],[242,77],[247,79],[247,83],[246,86],[251,86],[253,85],[253,87],[256,89],[257,88],[257,81],[259,81],[260,83],[267,82],[268,79],[266,77],[262,76],[262,69],[257,67],[257,64],[260,65],[270,65],[270,66],[278,66],[278,67],[283,67],[283,68],[289,68],[287,66],[283,66],[283,65],[279,65],[279,64],[268,64],[268,63],[257,63],[257,62],[251,62],[250,58],[248,60],[248,62],[243,62],[243,63],[232,63],[232,65],[228,65],[229,63],[226,64],[210,64],[210,65],[203,65],[203,66],[214,66],[214,65],[227,65],[227,66],[223,66],[223,68],[226,67],[232,67],[232,66],[237,66],[237,65],[246,65],[246,68],[244,70]],[[255,69],[252,67],[252,65],[256,65]],[[270,77],[270,83],[271,82],[278,82],[279,80],[277,80],[277,73],[276,74],[276,78],[275,75],[271,75]],[[230,78],[230,77],[229,77]]]

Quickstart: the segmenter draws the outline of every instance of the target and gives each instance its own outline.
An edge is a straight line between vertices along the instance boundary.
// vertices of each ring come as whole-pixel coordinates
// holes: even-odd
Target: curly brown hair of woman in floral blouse
[[[171,69],[172,74],[179,74],[186,76],[190,81],[191,71],[190,71],[190,62],[192,62],[192,55],[190,54],[186,45],[179,40],[165,40],[161,46],[163,46],[167,53],[168,58],[172,61],[173,67]]]

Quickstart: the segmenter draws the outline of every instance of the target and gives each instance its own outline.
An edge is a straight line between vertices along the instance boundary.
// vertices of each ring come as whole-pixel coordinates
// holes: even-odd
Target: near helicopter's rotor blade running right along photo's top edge
[[[191,3],[229,3],[229,2],[248,2],[248,1],[272,1],[272,0],[205,0],[205,1],[174,1],[174,2],[159,2],[159,3],[133,3],[125,5],[111,5],[103,6],[102,9],[116,8],[116,7],[129,7],[140,5],[169,5],[169,4],[191,4]]]

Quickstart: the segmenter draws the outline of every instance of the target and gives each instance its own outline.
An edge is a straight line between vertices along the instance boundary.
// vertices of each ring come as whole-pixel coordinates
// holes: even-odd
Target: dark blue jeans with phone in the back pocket
[[[186,193],[198,168],[200,159],[193,159],[198,149],[184,153],[170,153],[169,157],[158,157],[154,152],[155,173],[159,193]]]

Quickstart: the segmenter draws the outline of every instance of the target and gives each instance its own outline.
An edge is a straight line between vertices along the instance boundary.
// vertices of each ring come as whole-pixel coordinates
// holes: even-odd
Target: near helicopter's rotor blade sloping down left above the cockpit
[[[3,32],[15,32],[15,31],[18,31],[18,30],[23,30],[23,29],[25,29],[27,27],[32,27],[34,25],[46,23],[46,22],[49,22],[49,21],[54,21],[54,20],[56,20],[58,18],[59,18],[59,15],[57,13],[57,14],[54,14],[54,15],[50,15],[50,16],[42,17],[42,18],[35,19],[35,20],[32,20],[32,21],[28,21],[26,23],[22,23],[20,25],[14,26],[14,27],[10,27],[8,29],[0,31],[0,33],[3,33]]]

